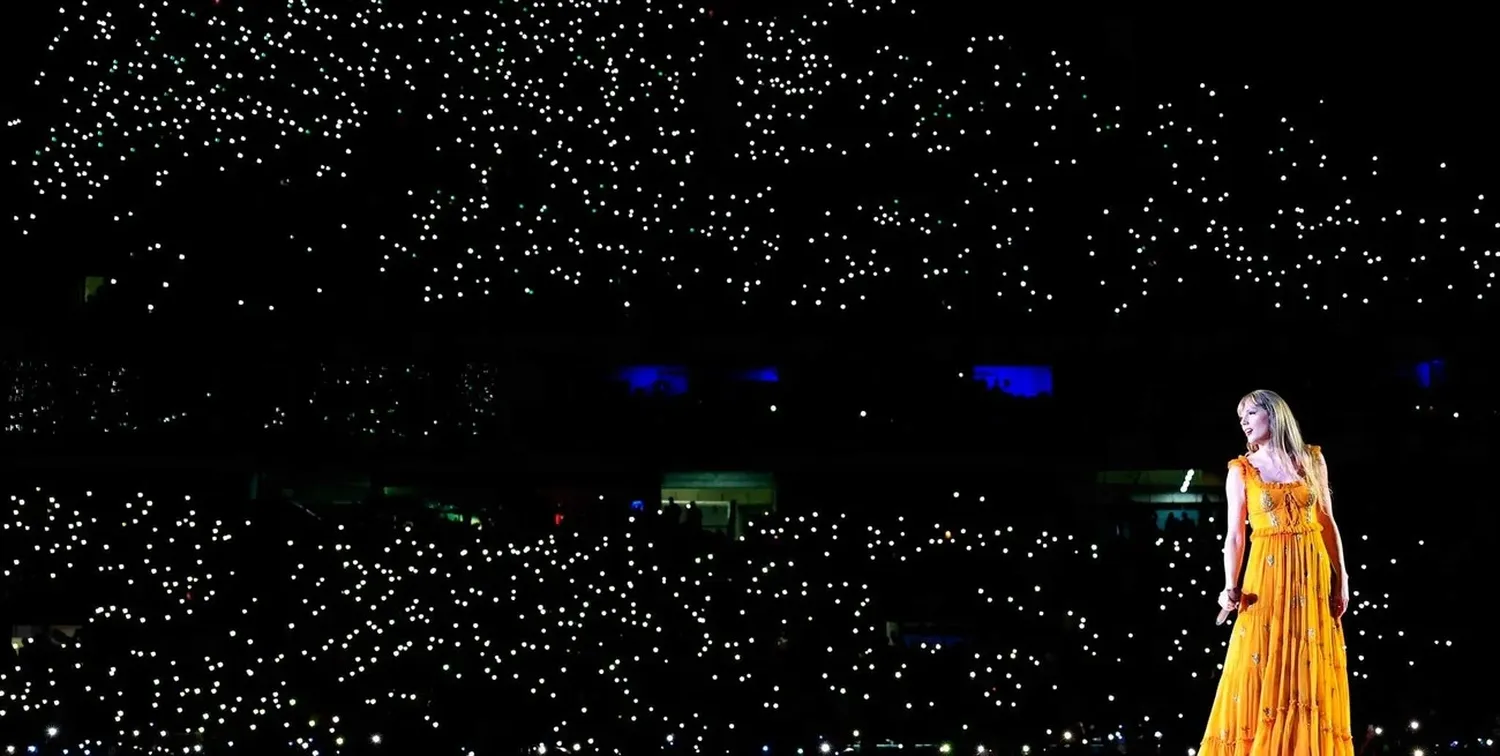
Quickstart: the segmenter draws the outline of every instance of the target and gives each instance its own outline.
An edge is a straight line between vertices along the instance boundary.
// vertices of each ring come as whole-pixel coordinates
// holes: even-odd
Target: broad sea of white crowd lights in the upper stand
[[[1126,106],[1062,50],[924,14],[70,2],[32,72],[50,106],[8,129],[10,220],[54,248],[111,225],[106,294],[182,315],[370,280],[616,314],[1125,315],[1203,290],[1347,314],[1494,286],[1500,219],[1446,160],[1392,183],[1288,96]]]

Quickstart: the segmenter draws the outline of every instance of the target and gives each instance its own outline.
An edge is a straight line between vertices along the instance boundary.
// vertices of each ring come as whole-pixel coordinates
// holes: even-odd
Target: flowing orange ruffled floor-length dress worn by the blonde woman
[[[1314,459],[1320,450],[1308,447]],[[1352,756],[1344,628],[1317,492],[1268,483],[1248,458],[1250,562],[1198,756]]]

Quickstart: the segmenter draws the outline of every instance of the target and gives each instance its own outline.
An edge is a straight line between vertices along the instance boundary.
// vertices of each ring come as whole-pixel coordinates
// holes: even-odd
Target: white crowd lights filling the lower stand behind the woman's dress
[[[440,753],[730,753],[789,728],[795,747],[842,750],[897,720],[992,752],[1076,738],[1176,748],[1202,735],[1227,640],[1206,620],[1221,570],[1214,518],[1090,540],[807,513],[766,516],[728,544],[669,532],[626,502],[621,531],[514,540],[490,525],[286,519],[189,495],[6,498],[6,584],[92,606],[72,639],[22,644],[0,676],[3,746],[18,750],[368,753],[422,738]],[[1401,628],[1392,585],[1419,585],[1440,561],[1406,538],[1346,536],[1356,710],[1389,708],[1377,698],[1413,669],[1462,663],[1450,639]],[[1400,567],[1383,564],[1390,554]],[[1119,594],[1122,567],[1160,585]],[[968,638],[891,646],[886,622],[914,606],[964,616]],[[1485,742],[1406,718],[1402,747]]]

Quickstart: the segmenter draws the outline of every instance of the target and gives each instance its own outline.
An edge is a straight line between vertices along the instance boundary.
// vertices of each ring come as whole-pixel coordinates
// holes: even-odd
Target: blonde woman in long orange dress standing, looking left
[[[1218,597],[1238,616],[1198,754],[1353,754],[1341,626],[1348,572],[1328,460],[1276,393],[1251,392],[1238,414],[1250,453],[1230,460],[1224,483]]]

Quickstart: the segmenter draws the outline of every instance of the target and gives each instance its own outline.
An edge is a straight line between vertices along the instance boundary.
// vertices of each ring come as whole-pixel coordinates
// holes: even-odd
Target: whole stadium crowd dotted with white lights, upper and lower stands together
[[[1228,633],[1210,616],[1212,507],[1078,510],[939,471],[873,496],[826,484],[723,532],[692,501],[624,498],[452,522],[148,478],[129,460],[86,483],[12,459],[38,450],[513,460],[634,452],[620,438],[702,448],[717,436],[700,430],[734,428],[746,448],[837,446],[872,466],[894,446],[924,464],[1066,456],[1052,441],[1068,434],[1113,434],[1092,460],[1203,459],[1182,446],[1228,429],[1228,406],[1176,412],[1197,398],[1174,390],[1209,370],[1179,334],[1222,321],[1233,368],[1215,380],[1281,370],[1342,398],[1308,402],[1322,420],[1378,399],[1322,426],[1362,444],[1366,468],[1422,452],[1448,465],[1422,484],[1458,489],[1452,468],[1488,459],[1492,360],[1455,360],[1468,384],[1443,393],[1438,358],[1440,336],[1491,316],[1500,218],[1482,165],[1449,164],[1446,144],[1350,146],[1322,108],[1244,81],[1137,96],[1100,56],[994,20],[774,4],[144,0],[45,8],[40,32],[15,34],[27,70],[0,82],[20,84],[0,98],[0,148],[18,262],[0,308],[45,348],[0,339],[15,645],[0,747],[1192,756]],[[1378,117],[1426,117],[1400,111]],[[1028,393],[927,348],[1072,321],[1059,330],[1104,333],[1094,344],[1138,328],[1146,357],[1059,368],[1071,396],[1054,400],[1050,372]],[[668,370],[626,380],[646,394],[632,398],[598,366],[651,350],[608,344],[616,326],[705,344],[818,330],[762,339],[813,356],[789,375],[826,364],[690,390]],[[504,339],[482,358],[392,356],[414,330],[586,333],[596,351],[572,372],[532,369],[568,346],[512,360]],[[1359,354],[1352,330],[1404,362],[1314,351]],[[375,346],[342,362],[268,344],[351,332]],[[849,332],[872,348],[828,357]],[[896,332],[922,356],[872,378],[860,360],[898,362]],[[1251,358],[1263,340],[1296,354]],[[124,358],[88,358],[111,348]],[[1164,435],[1172,453],[1149,447]],[[1474,594],[1496,514],[1390,474],[1335,483],[1384,489],[1340,500],[1356,744],[1494,754],[1500,706],[1476,690],[1497,650]]]

